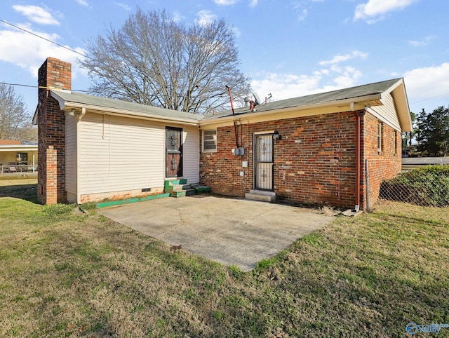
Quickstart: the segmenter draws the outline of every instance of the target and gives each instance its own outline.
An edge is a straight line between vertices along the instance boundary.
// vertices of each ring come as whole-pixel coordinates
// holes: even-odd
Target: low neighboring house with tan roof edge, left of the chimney
[[[36,166],[37,142],[0,140],[0,173],[34,173]]]

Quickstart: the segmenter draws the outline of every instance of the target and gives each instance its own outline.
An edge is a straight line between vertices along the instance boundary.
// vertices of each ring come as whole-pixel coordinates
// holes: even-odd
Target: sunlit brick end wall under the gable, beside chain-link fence
[[[401,133],[395,131],[387,123],[382,123],[382,151],[377,151],[377,121],[377,118],[368,112],[361,119],[361,130],[363,133],[362,154],[363,158],[368,159],[369,177],[368,189],[365,189],[363,194],[361,194],[363,201],[361,205],[363,205],[364,209],[370,209],[377,201],[382,180],[389,180],[401,173]],[[364,161],[362,164],[362,180],[366,182]],[[368,198],[367,194],[369,195]]]

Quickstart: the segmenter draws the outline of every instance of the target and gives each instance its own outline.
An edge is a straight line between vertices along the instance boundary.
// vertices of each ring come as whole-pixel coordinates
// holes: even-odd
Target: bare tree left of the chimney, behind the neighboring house
[[[31,120],[32,116],[25,109],[22,95],[16,94],[13,86],[1,83],[0,139],[37,140],[36,128],[32,126]]]

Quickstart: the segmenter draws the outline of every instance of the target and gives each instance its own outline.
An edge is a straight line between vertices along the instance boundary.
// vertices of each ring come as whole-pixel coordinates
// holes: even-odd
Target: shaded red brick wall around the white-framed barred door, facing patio
[[[217,152],[201,152],[200,180],[218,194],[244,196],[253,189],[253,133],[278,130],[274,191],[288,203],[355,205],[356,119],[352,111],[249,124],[237,131],[245,156],[234,156],[234,127],[217,129]],[[248,161],[248,168],[242,167]],[[243,171],[244,176],[239,173]]]

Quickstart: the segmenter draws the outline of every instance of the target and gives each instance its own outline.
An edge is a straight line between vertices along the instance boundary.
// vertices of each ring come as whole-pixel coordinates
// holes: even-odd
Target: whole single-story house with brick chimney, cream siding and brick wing
[[[54,58],[39,86],[47,204],[157,194],[182,177],[229,196],[365,209],[401,171],[411,129],[403,79],[204,116],[73,93],[71,65]]]

